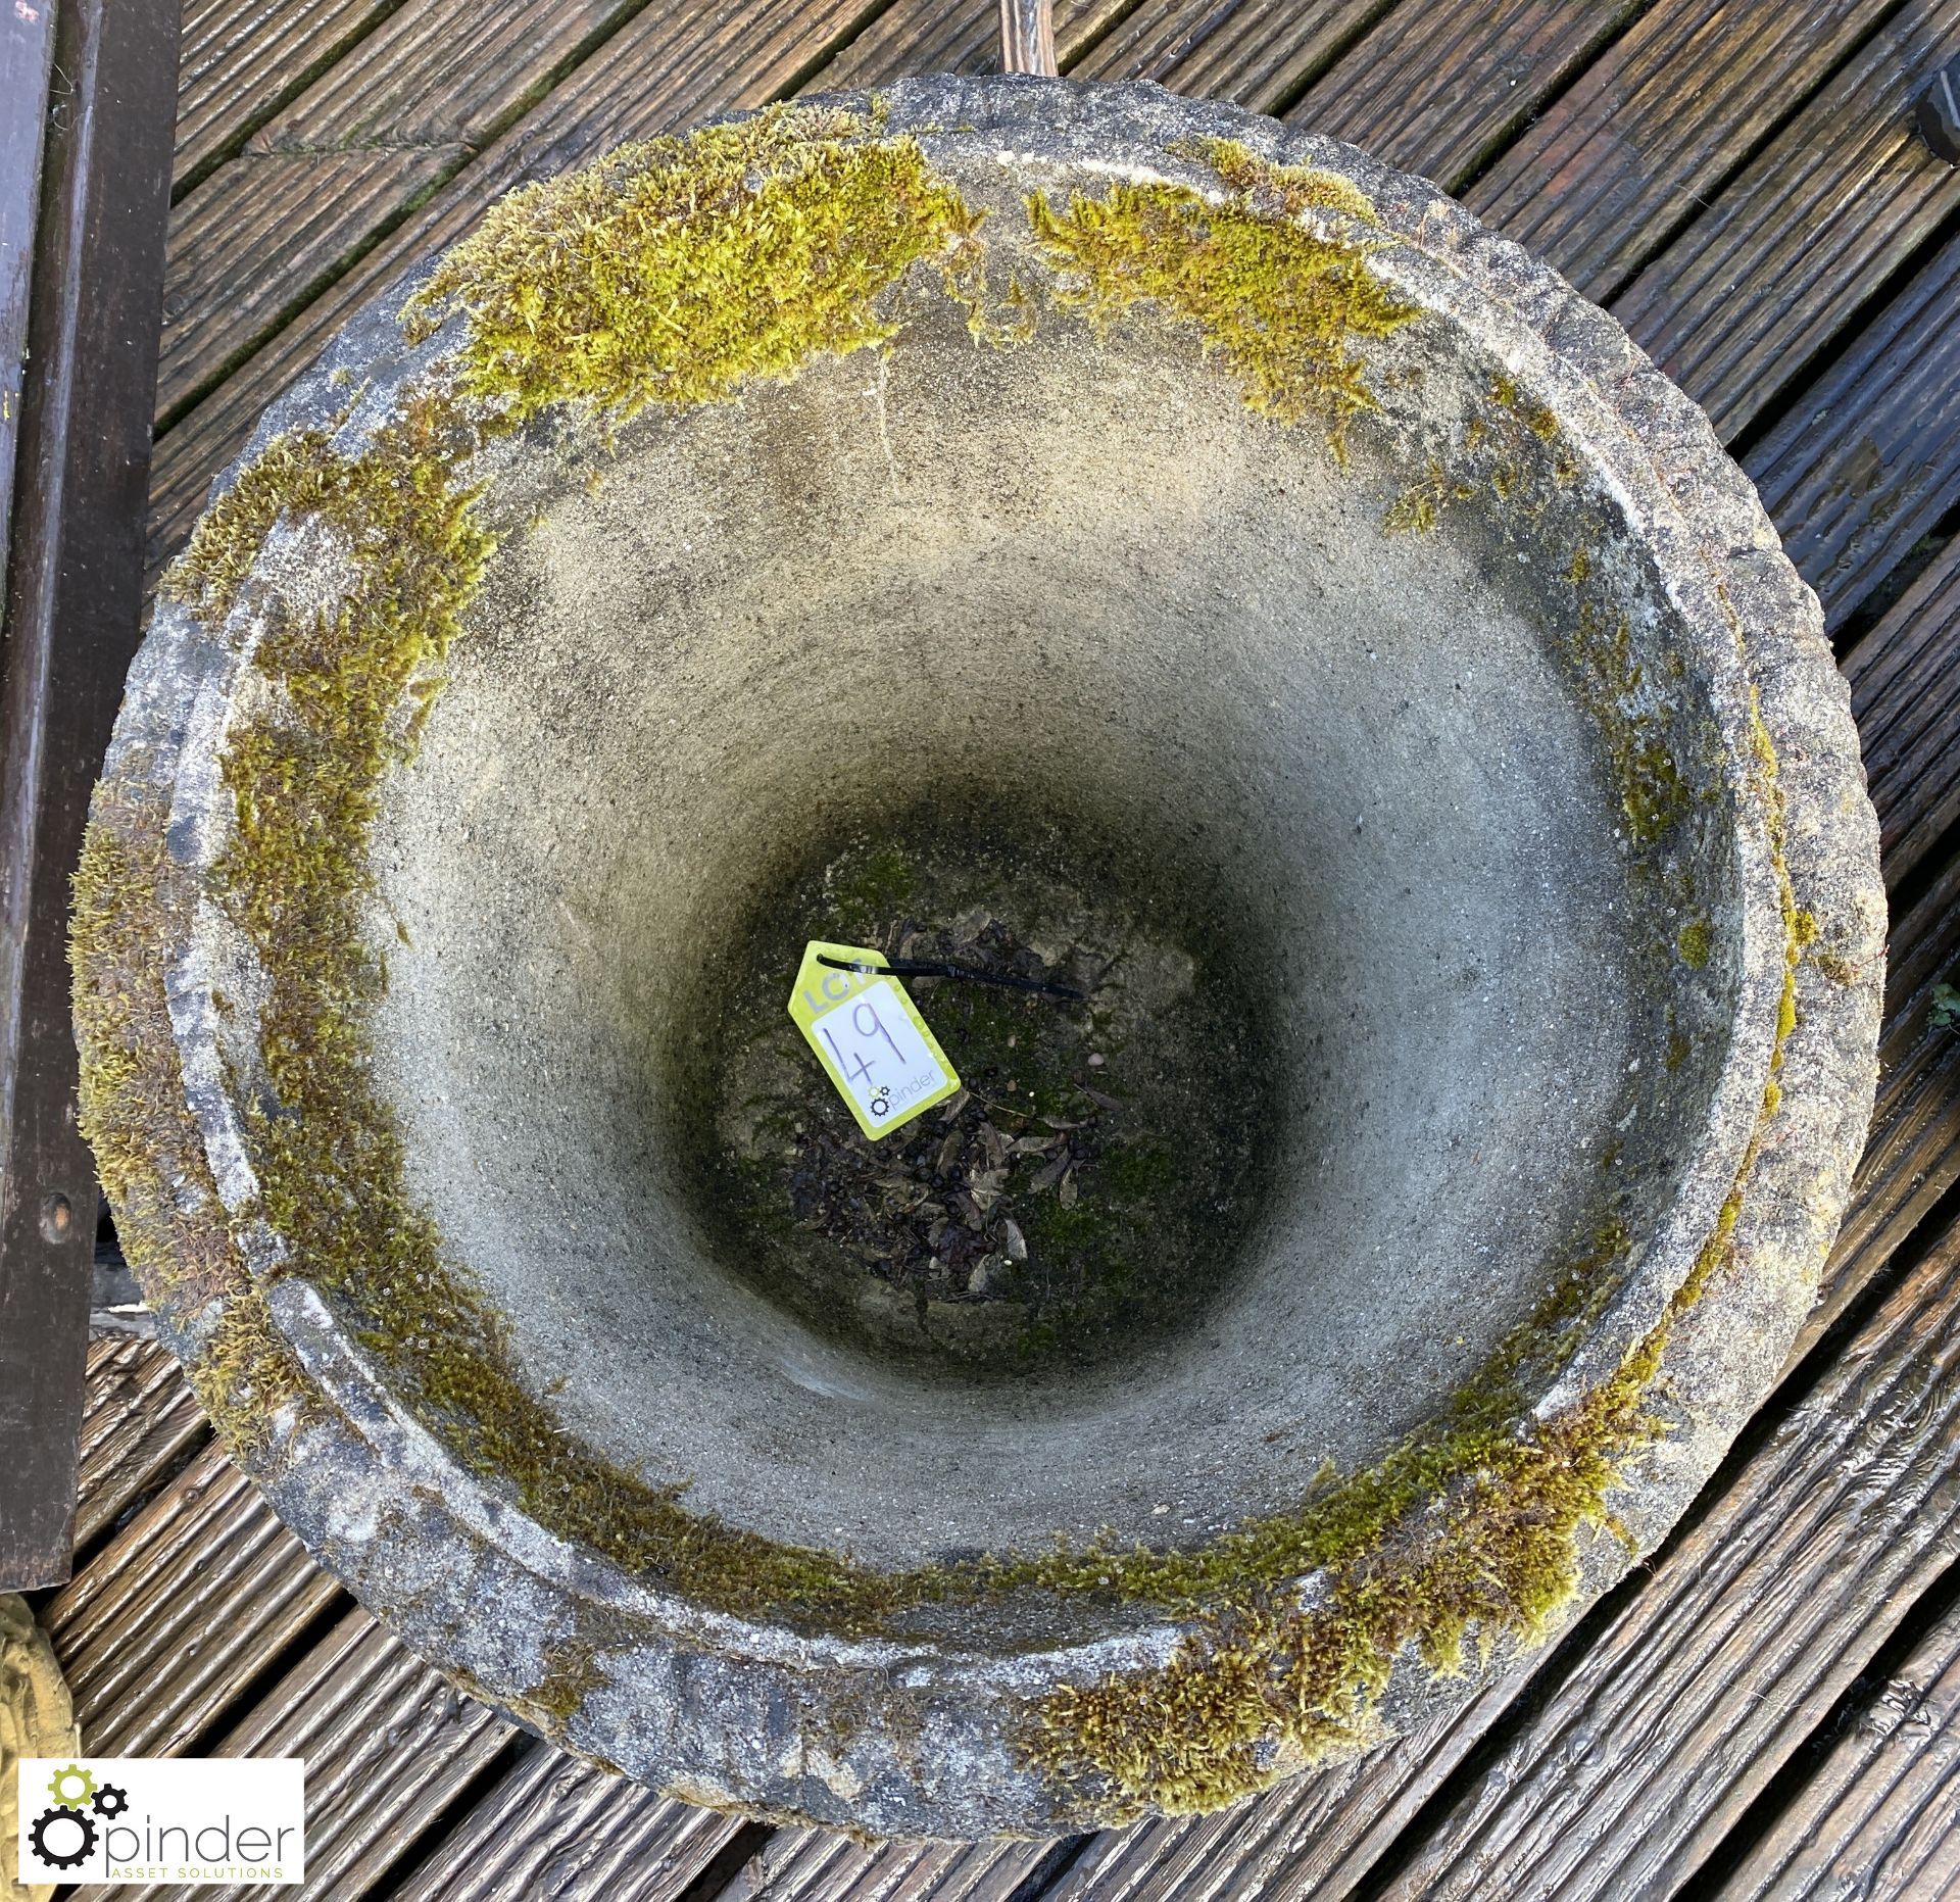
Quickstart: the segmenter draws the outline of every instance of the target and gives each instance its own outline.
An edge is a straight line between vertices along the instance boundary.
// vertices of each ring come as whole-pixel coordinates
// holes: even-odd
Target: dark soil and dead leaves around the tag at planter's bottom
[[[1258,1090],[1239,994],[1145,910],[1039,851],[862,845],[784,908],[711,1061],[715,1202],[753,1280],[825,1331],[974,1369],[1098,1359],[1215,1290],[1250,1208]],[[960,1092],[876,1141],[784,1002],[827,937],[976,978],[906,978]],[[1256,1065],[1250,1067],[1256,1073]]]

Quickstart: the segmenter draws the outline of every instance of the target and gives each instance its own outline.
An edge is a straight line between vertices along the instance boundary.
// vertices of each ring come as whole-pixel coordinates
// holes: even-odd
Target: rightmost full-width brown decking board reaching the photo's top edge
[[[1703,212],[1895,0],[1660,0],[1468,204],[1595,300]]]

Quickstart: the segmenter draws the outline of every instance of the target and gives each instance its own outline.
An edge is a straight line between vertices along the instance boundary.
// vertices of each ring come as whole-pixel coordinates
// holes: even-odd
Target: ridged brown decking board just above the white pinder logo
[[[98,1757],[184,1751],[341,1594],[208,1447],[41,1614]]]

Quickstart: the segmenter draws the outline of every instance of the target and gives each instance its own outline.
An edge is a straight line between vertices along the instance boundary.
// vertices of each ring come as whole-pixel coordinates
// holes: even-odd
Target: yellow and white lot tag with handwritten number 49
[[[837,963],[825,965],[823,959]],[[843,971],[839,965],[862,965]],[[947,1053],[925,1027],[884,957],[860,945],[804,945],[790,1016],[874,1141],[945,1102],[958,1086]]]

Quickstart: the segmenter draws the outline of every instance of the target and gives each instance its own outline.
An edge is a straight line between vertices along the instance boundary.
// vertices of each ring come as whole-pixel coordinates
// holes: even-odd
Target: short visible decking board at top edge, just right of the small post
[[[1154,78],[1172,92],[1254,112],[1292,104],[1317,67],[1396,0],[1145,0],[1076,69],[1076,78]]]

